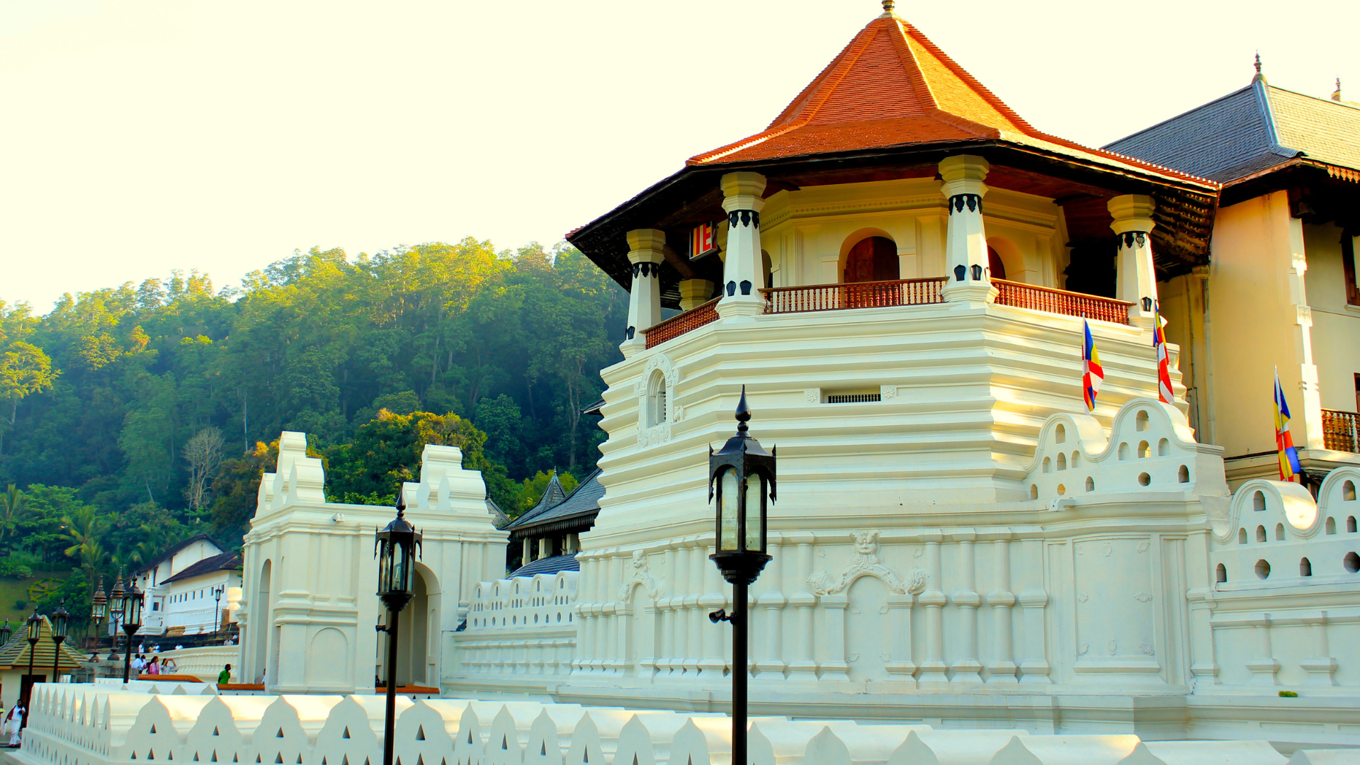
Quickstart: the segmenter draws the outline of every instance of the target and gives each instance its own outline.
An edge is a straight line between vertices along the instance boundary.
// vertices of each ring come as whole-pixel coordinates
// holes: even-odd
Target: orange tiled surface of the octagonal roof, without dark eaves
[[[869,22],[763,132],[692,157],[688,165],[994,139],[1214,185],[1036,131],[895,14]]]

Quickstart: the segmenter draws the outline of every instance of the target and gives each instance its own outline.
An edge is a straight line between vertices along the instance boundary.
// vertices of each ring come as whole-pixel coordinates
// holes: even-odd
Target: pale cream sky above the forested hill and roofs
[[[544,245],[764,128],[877,0],[0,0],[0,299],[294,249]],[[1360,3],[899,1],[1099,146],[1246,86],[1360,101]]]

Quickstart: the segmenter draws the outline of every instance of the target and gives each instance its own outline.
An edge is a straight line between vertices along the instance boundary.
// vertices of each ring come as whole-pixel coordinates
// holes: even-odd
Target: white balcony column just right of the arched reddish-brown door
[[[956,154],[940,162],[940,177],[949,208],[949,226],[945,233],[945,276],[944,299],[986,305],[996,299],[997,290],[991,286],[987,267],[987,234],[982,225],[982,197],[987,193],[987,170],[991,165],[981,157]]]

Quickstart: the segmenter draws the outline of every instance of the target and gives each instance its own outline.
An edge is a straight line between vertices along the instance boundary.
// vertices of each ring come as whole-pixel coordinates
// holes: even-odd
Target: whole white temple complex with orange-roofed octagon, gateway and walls
[[[624,361],[601,372],[604,494],[573,539],[579,570],[507,577],[480,474],[426,446],[403,487],[424,535],[416,595],[384,667],[373,546],[393,510],[326,502],[305,434],[284,433],[237,610],[237,675],[277,698],[42,686],[24,755],[216,760],[212,720],[237,731],[231,761],[358,764],[381,735],[369,694],[392,675],[443,697],[401,702],[412,761],[730,765],[718,713],[741,671],[763,716],[752,762],[771,765],[1266,764],[1360,746],[1360,415],[1338,391],[1360,380],[1360,109],[1308,105],[1349,150],[1280,139],[1278,166],[1202,177],[1175,151],[1134,155],[1255,112],[1081,147],[884,5],[766,131],[568,234],[631,295]],[[1104,368],[1093,410],[1085,327]],[[1273,368],[1300,483],[1262,451]],[[732,591],[707,559],[706,481],[743,387],[779,495],[751,664],[734,667],[730,628],[709,618]],[[156,739],[166,726],[180,738]],[[1318,757],[1295,761],[1356,761]]]

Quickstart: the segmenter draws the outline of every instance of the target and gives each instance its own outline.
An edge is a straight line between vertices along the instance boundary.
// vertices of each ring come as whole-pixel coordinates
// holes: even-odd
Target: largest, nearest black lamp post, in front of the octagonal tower
[[[747,388],[741,387],[737,403],[737,433],[722,449],[709,449],[709,501],[717,486],[718,525],[714,554],[709,555],[732,583],[732,615],[718,610],[709,614],[714,623],[732,623],[732,762],[747,762],[747,585],[753,583],[764,565],[766,512],[775,498],[775,453],[764,451],[747,434],[751,408]]]

